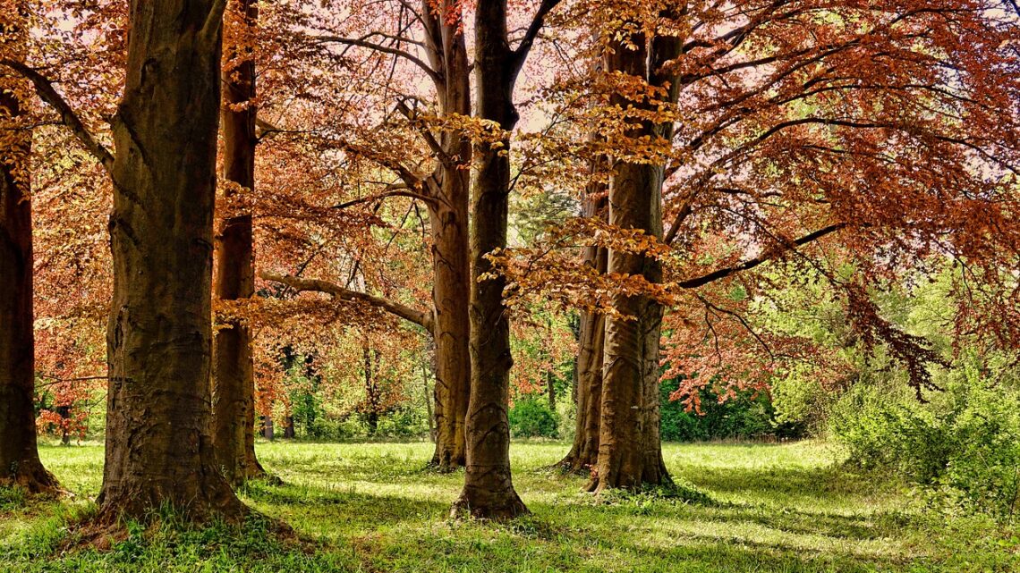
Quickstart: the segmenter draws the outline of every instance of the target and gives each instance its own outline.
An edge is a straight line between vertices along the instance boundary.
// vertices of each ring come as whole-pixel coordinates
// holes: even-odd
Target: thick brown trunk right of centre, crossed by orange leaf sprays
[[[680,10],[674,7],[674,10]],[[674,12],[675,13],[675,12]],[[672,16],[674,13],[664,13]],[[677,87],[672,77],[660,73],[663,63],[679,55],[678,38],[656,37],[651,42],[643,34],[615,41],[607,56],[607,69],[644,79],[649,84],[669,86],[668,98],[676,101]],[[654,102],[631,101],[614,96],[614,104],[626,108],[653,108]],[[629,137],[669,140],[672,126],[635,121]],[[621,228],[640,228],[662,239],[662,184],[664,165],[617,161],[609,189],[609,222]],[[641,274],[650,282],[662,281],[662,265],[641,254],[610,251],[608,271]],[[607,317],[605,326],[602,420],[599,458],[589,488],[628,489],[670,481],[662,459],[659,429],[659,338],[663,308],[645,296],[615,296],[613,305],[625,320]]]

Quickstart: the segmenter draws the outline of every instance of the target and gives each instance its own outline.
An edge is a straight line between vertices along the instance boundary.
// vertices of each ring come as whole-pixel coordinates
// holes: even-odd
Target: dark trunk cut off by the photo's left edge
[[[23,58],[23,6],[0,15]],[[33,330],[31,132],[16,125],[16,82],[0,74],[0,485],[53,492],[57,481],[39,461],[36,444],[36,368]]]

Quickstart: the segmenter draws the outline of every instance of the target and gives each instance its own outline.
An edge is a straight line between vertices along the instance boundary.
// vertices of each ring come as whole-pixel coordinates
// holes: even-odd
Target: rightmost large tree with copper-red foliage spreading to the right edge
[[[657,343],[628,324],[657,330],[656,305],[670,309],[663,354],[667,375],[683,377],[676,399],[712,380],[725,396],[734,372],[755,371],[754,383],[767,387],[777,363],[812,359],[803,341],[760,332],[748,318],[776,304],[773,262],[794,283],[821,276],[857,334],[891,349],[921,398],[935,387],[929,366],[939,358],[883,317],[871,290],[949,257],[964,269],[955,289],[968,301],[957,309],[958,335],[1015,345],[1016,12],[997,1],[803,0],[687,2],[663,17],[681,6],[590,10],[616,31],[603,40],[616,44],[615,71],[593,83],[609,86],[611,101],[596,118],[573,113],[606,138],[589,154],[613,161],[610,223],[571,222],[550,245],[519,251],[526,263],[501,263],[523,296],[545,291],[606,314],[602,450],[614,448],[607,437],[633,444],[632,424],[655,431],[652,405],[633,396],[640,365],[658,370]],[[674,42],[672,54],[655,56],[657,44]],[[635,186],[645,191],[628,193]],[[657,189],[662,200],[645,205]],[[610,250],[608,274],[543,255],[578,243]],[[623,351],[649,359],[620,362]],[[609,384],[614,369],[629,382]],[[605,426],[607,408],[619,404],[605,399],[621,387],[629,394],[613,399],[639,415],[624,413],[619,434]],[[610,472],[614,483],[640,486],[646,465],[653,478],[661,473],[654,462],[621,462],[638,469],[620,479],[619,467],[600,463],[598,478]]]

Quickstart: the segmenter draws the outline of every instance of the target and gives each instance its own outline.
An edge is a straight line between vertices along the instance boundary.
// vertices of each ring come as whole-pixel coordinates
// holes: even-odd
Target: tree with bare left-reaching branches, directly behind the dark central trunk
[[[364,36],[340,36],[337,30],[328,30],[328,24],[318,21],[305,28],[314,31],[309,40],[317,44],[342,46],[345,54],[348,49],[360,50],[371,54],[369,57],[374,61],[391,62],[382,95],[375,97],[380,97],[405,124],[398,125],[388,113],[379,125],[366,131],[367,143],[355,144],[345,139],[340,147],[345,154],[376,163],[397,180],[386,185],[378,194],[345,202],[343,207],[389,197],[410,197],[427,209],[432,268],[432,308],[428,320],[436,344],[437,439],[431,464],[452,470],[464,465],[464,416],[470,383],[467,222],[471,142],[457,125],[471,115],[470,65],[462,7],[454,0],[421,0],[418,8],[404,1],[382,7],[392,9],[380,10],[377,2],[347,3],[335,8],[338,13],[348,14],[345,20],[356,22],[355,30],[349,31],[351,34],[371,31]],[[393,31],[388,30],[391,27]],[[412,53],[416,47],[424,52],[423,59]],[[405,95],[406,87],[394,77],[395,70],[401,69],[398,63],[424,72],[428,82],[412,84],[412,89],[419,90],[422,84],[429,86],[435,102],[427,102],[426,97]],[[378,66],[369,66],[368,73],[378,75]],[[423,109],[426,105],[435,107]],[[389,138],[393,129],[408,127],[431,156],[435,165],[430,173],[423,173],[407,158],[406,148],[386,149],[380,136]],[[337,289],[342,287],[334,282],[330,291]],[[386,304],[379,308],[394,307]],[[401,313],[397,316],[407,318]]]

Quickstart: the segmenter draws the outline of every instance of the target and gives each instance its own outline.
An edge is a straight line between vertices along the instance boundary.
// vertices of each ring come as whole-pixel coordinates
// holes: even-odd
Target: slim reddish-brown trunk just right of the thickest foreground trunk
[[[245,14],[249,29],[258,18],[253,0],[234,0]],[[223,178],[238,187],[226,189],[226,197],[250,194],[255,189],[255,117],[251,103],[239,111],[231,106],[255,98],[255,60],[246,59],[227,70],[223,82]],[[240,189],[239,189],[240,188]],[[236,301],[255,294],[255,252],[250,212],[223,219],[216,238],[215,295]],[[215,334],[212,378],[212,439],[223,476],[233,484],[262,477],[265,470],[255,456],[255,374],[251,330],[243,321],[233,321]]]

